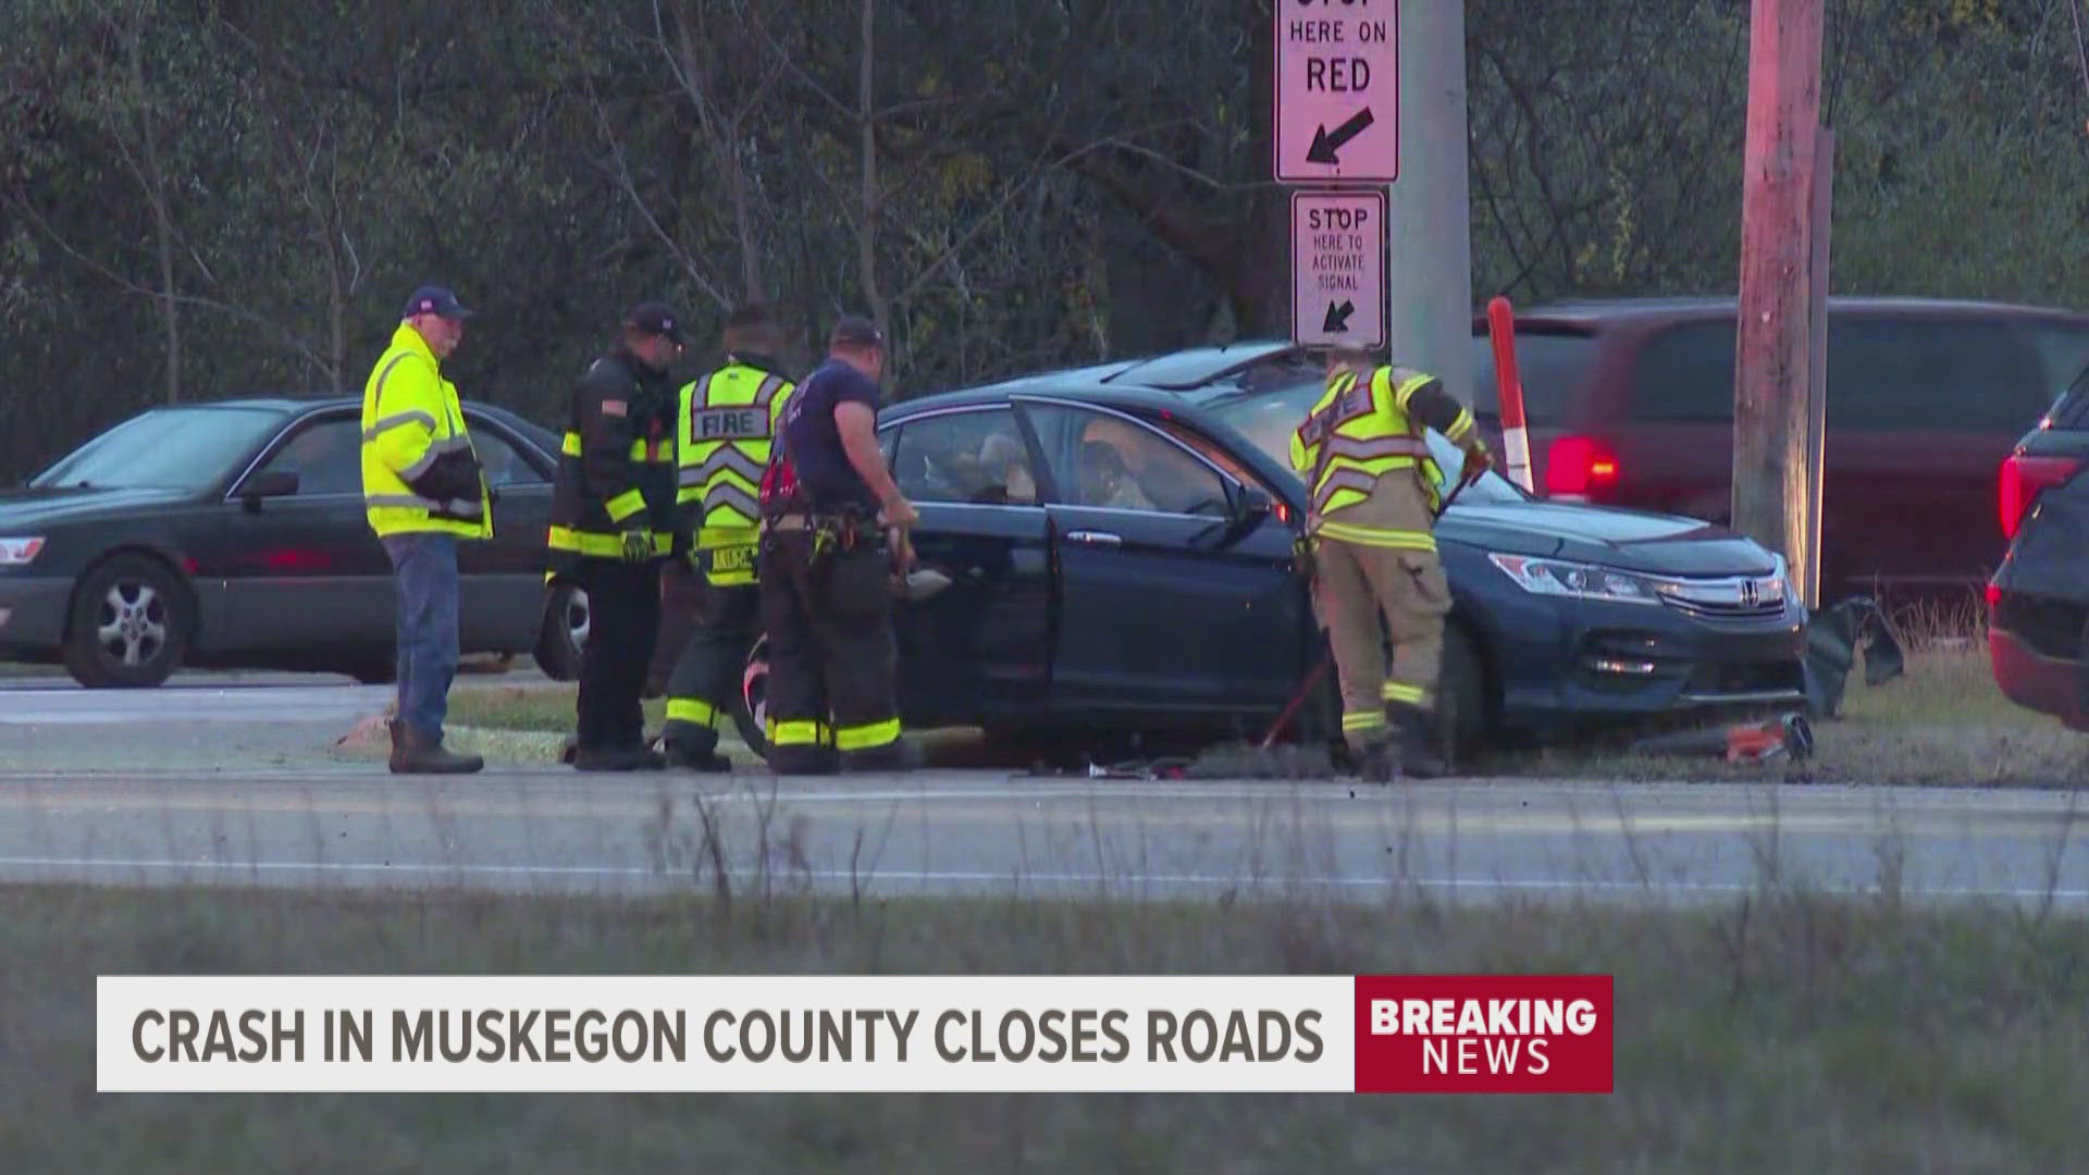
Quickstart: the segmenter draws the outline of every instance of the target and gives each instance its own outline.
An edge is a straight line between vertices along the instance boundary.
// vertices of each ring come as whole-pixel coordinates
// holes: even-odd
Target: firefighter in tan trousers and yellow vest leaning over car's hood
[[[1464,479],[1489,464],[1473,414],[1427,372],[1335,349],[1327,391],[1291,437],[1312,500],[1314,598],[1341,677],[1341,732],[1370,780],[1435,778],[1435,688],[1450,585],[1435,548],[1441,470],[1423,429],[1464,450]],[[1379,615],[1391,633],[1385,669]]]

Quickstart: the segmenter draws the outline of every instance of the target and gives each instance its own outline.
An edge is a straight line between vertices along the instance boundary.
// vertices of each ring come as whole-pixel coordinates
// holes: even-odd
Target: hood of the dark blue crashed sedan
[[[1767,575],[1761,544],[1698,519],[1567,502],[1452,506],[1437,537],[1504,554],[1598,562],[1654,575]]]

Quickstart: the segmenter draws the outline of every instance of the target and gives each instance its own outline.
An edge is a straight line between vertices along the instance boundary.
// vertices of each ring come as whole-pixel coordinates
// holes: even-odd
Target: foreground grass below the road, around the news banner
[[[1615,974],[1617,1093],[94,1093],[107,972],[1462,970]],[[1891,893],[1634,912],[13,886],[0,1008],[21,1173],[2089,1169],[2089,928]]]

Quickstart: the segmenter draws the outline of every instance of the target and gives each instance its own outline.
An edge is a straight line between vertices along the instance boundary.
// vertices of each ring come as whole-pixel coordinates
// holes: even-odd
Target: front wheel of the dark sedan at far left
[[[88,569],[65,621],[65,669],[90,690],[167,682],[194,631],[188,585],[159,558],[115,554]]]

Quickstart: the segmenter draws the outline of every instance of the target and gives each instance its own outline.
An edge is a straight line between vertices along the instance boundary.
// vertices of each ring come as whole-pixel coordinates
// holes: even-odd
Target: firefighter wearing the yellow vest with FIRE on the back
[[[719,755],[719,723],[740,692],[740,669],[760,629],[754,550],[760,481],[771,439],[794,385],[767,307],[735,309],[725,320],[725,366],[681,389],[675,416],[683,529],[694,535],[691,565],[704,577],[704,615],[668,677],[662,742],[671,765],[731,771]]]

